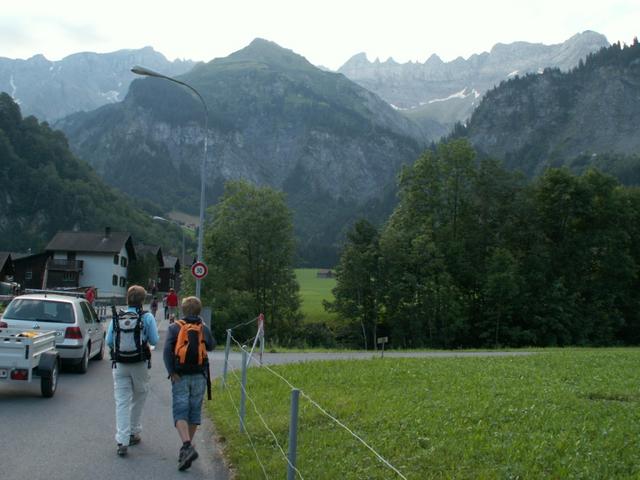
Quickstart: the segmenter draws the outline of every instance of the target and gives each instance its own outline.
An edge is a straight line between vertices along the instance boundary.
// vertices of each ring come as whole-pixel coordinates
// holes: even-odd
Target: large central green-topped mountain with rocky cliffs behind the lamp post
[[[335,249],[349,219],[393,184],[428,140],[375,94],[262,39],[178,78],[208,106],[208,203],[228,179],[285,191],[301,251]],[[202,124],[202,105],[188,90],[145,78],[131,83],[123,102],[56,126],[111,185],[193,212]]]

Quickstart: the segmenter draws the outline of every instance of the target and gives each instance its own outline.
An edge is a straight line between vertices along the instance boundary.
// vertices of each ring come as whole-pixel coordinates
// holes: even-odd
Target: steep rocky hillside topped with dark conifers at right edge
[[[488,92],[466,128],[479,151],[528,176],[596,165],[622,182],[640,176],[640,45],[616,43],[568,73],[547,69]]]

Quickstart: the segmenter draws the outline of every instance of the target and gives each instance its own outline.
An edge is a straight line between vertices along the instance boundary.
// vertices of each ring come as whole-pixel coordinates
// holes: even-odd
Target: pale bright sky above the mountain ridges
[[[561,43],[593,30],[640,36],[640,0],[4,0],[0,57],[49,60],[152,46],[169,60],[226,57],[260,37],[338,69],[369,60],[445,61],[496,43]]]

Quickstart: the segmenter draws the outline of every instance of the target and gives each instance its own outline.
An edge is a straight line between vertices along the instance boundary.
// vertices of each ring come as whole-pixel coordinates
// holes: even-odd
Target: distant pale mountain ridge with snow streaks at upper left
[[[51,122],[124,99],[133,80],[132,65],[179,75],[190,70],[194,62],[170,62],[151,47],[75,53],[59,61],[42,55],[27,60],[0,57],[0,91],[9,93],[24,115]]]

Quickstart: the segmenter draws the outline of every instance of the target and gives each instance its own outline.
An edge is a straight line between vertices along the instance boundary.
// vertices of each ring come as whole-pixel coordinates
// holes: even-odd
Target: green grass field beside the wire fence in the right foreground
[[[632,479],[640,478],[639,364],[640,349],[569,349],[274,370],[408,479]],[[207,406],[237,478],[265,478],[239,432],[236,375]],[[286,452],[290,388],[252,368],[247,391]],[[284,478],[286,461],[249,401],[246,425],[267,478]],[[401,478],[302,396],[298,468],[316,480]]]

